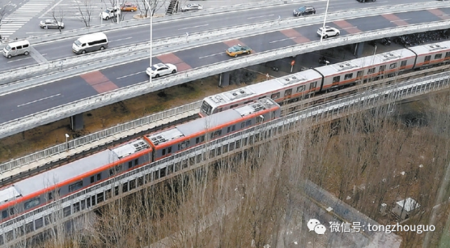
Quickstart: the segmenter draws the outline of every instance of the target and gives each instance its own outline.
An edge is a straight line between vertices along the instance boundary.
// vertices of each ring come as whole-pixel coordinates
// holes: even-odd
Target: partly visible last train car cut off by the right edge
[[[442,65],[450,60],[450,41],[413,46],[408,48],[416,54],[414,69],[420,70],[434,65]]]

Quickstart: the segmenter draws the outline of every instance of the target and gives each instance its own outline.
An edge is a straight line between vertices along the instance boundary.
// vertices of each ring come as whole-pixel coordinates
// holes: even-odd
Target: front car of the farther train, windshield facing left
[[[272,98],[277,103],[319,91],[322,76],[315,70],[305,70],[286,77],[263,81],[241,89],[218,93],[204,98],[200,115],[206,117],[217,112],[251,103],[260,98]]]

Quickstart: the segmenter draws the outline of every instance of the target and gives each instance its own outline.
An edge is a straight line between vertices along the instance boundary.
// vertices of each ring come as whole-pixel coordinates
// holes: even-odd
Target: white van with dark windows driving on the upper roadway
[[[86,34],[79,37],[72,45],[72,51],[84,54],[91,51],[103,50],[108,47],[108,38],[102,32]]]

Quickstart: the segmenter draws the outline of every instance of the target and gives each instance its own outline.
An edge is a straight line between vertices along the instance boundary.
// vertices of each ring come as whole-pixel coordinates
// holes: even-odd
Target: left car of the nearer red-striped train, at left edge
[[[138,139],[1,188],[1,222],[148,164],[151,154],[147,141]]]

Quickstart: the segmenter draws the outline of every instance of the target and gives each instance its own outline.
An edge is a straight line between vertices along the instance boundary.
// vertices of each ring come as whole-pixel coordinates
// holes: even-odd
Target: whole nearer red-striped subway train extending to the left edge
[[[256,100],[206,118],[178,124],[97,152],[0,189],[1,221],[72,195],[118,174],[164,159],[207,141],[279,118],[272,99]],[[86,202],[88,206],[90,202]]]

